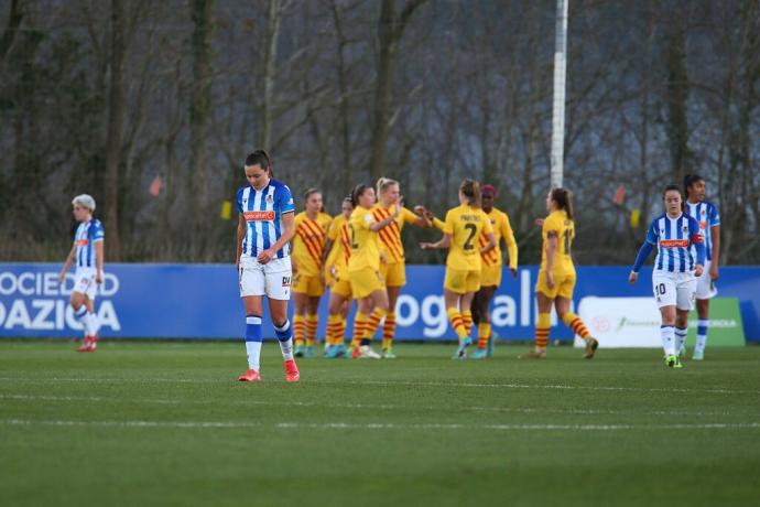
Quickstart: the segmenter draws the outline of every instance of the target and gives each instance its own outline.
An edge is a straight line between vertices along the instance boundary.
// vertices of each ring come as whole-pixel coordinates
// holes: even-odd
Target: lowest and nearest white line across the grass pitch
[[[754,430],[760,422],[702,423],[702,424],[446,424],[446,423],[351,423],[351,422],[224,422],[224,421],[69,421],[2,419],[4,425],[52,425],[52,427],[110,427],[110,428],[173,428],[173,429],[245,429],[274,428],[287,430],[498,430],[498,431],[632,431],[632,430]]]

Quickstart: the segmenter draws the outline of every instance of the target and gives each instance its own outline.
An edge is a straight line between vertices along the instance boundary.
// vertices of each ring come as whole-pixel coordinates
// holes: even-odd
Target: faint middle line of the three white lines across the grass
[[[0,399],[28,400],[28,401],[122,401],[116,398],[91,397],[91,396],[50,396],[50,395],[0,395]],[[264,400],[182,400],[182,399],[159,399],[159,398],[131,398],[130,403],[156,403],[156,404],[235,404],[254,407],[328,407],[333,409],[357,409],[357,410],[426,410],[446,411],[452,407],[421,406],[421,404],[368,404],[368,403],[323,403],[317,401],[264,401]],[[630,416],[645,413],[650,416],[731,416],[726,411],[688,411],[688,410],[653,410],[642,412],[640,410],[610,410],[610,409],[551,409],[551,408],[524,408],[524,407],[456,407],[457,410],[468,410],[474,412],[503,412],[503,413],[556,413],[556,414],[577,414],[577,416]]]

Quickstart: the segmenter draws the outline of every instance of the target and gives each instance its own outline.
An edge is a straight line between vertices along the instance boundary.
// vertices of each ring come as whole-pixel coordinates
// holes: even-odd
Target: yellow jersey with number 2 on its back
[[[452,236],[446,266],[463,271],[480,270],[480,234],[493,233],[491,220],[479,207],[463,204],[446,213],[444,234]]]

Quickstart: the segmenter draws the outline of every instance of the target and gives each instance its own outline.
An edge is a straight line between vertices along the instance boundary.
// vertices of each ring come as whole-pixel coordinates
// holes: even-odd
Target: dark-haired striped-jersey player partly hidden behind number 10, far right
[[[720,257],[720,214],[713,203],[705,201],[705,180],[696,174],[687,174],[684,179],[686,192],[686,213],[699,223],[699,230],[705,238],[705,276],[697,281],[697,336],[692,359],[702,360],[705,357],[707,344],[707,328],[709,327],[709,300],[718,291],[715,281],[718,279],[718,262]]]

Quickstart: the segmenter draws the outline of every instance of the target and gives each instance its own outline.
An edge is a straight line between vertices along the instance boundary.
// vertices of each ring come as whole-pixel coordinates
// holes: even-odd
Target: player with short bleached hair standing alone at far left
[[[72,201],[72,206],[74,206],[74,219],[79,223],[79,226],[74,234],[72,250],[58,273],[58,282],[64,282],[66,273],[76,260],[74,290],[69,302],[85,333],[85,339],[77,350],[95,352],[98,346],[99,328],[98,317],[95,315],[95,294],[98,285],[102,283],[106,233],[100,220],[93,218],[95,199],[91,196],[77,195]]]

